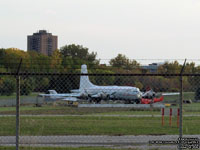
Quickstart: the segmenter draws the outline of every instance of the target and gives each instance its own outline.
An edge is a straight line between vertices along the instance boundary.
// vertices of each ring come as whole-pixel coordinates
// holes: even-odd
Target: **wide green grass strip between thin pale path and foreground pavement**
[[[184,117],[183,133],[200,134],[200,117]],[[178,134],[176,118],[172,127],[161,126],[160,117],[21,117],[21,135],[165,135]],[[15,135],[15,117],[0,118],[0,135]]]

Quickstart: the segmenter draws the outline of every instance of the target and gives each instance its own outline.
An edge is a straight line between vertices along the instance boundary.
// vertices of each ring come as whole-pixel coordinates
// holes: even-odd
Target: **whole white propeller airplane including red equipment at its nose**
[[[81,66],[81,74],[87,74],[87,65]],[[59,94],[55,90],[49,90],[49,94],[39,94],[53,100],[78,101],[87,99],[90,102],[100,103],[101,100],[123,100],[125,103],[151,104],[163,101],[163,96],[156,98],[153,90],[141,92],[139,88],[132,86],[98,86],[90,82],[87,75],[81,75],[79,89],[71,90],[71,93]]]

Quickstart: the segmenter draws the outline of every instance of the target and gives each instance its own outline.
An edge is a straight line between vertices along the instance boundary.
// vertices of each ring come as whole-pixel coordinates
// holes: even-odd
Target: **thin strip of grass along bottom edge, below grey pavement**
[[[15,150],[15,147],[3,147],[0,146],[0,150]],[[113,148],[106,148],[106,147],[20,147],[20,150],[116,150]],[[138,150],[135,148],[117,148],[117,150]],[[159,150],[159,149],[149,149],[149,150]]]

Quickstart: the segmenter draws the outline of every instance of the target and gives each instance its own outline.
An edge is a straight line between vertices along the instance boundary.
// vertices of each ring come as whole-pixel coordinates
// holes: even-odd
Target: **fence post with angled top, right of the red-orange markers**
[[[184,61],[184,64],[181,68],[181,72],[180,72],[180,99],[179,99],[179,113],[180,113],[180,117],[179,117],[179,138],[181,139],[183,137],[183,71],[185,68],[185,64],[186,64],[186,59]],[[182,144],[181,144],[181,140],[179,142],[179,150],[182,150]]]

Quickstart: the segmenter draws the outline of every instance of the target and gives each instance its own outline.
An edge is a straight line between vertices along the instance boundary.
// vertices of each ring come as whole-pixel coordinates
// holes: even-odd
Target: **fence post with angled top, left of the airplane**
[[[19,135],[20,135],[20,75],[19,71],[21,68],[22,59],[20,60],[17,75],[16,75],[16,150],[19,150]]]

